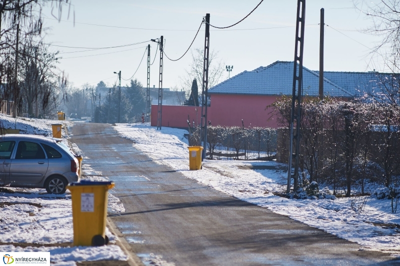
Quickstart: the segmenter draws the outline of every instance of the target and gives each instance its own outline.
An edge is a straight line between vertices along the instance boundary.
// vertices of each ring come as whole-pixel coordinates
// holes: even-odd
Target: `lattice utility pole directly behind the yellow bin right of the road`
[[[207,148],[207,105],[208,105],[208,57],[209,56],[209,13],[205,14],[205,37],[204,37],[204,62],[203,80],[201,88],[201,121],[200,121],[200,145],[202,128],[204,126],[203,154],[201,160],[205,158]],[[204,125],[203,125],[204,121]]]

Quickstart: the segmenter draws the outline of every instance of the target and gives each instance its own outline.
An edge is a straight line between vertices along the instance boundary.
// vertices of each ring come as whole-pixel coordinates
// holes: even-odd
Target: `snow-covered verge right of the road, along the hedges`
[[[122,137],[135,143],[155,162],[166,164],[215,189],[266,207],[368,250],[400,256],[400,214],[392,213],[390,200],[368,197],[363,211],[351,208],[350,198],[288,199],[276,196],[286,178],[286,165],[274,161],[204,160],[202,170],[188,170],[186,130],[145,124],[117,124]],[[363,200],[363,197],[360,197]],[[358,203],[355,205],[357,206]],[[396,227],[397,226],[397,227]]]

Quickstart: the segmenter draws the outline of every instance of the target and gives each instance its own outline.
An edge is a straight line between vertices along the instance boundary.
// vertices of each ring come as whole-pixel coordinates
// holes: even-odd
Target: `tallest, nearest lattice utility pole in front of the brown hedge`
[[[300,13],[301,12],[301,13]],[[300,122],[301,122],[301,84],[303,76],[303,44],[304,44],[304,22],[305,22],[305,0],[297,0],[297,18],[296,18],[296,37],[294,45],[294,65],[293,65],[293,92],[291,99],[290,115],[290,143],[287,169],[287,189],[290,192],[291,179],[293,179],[293,189],[297,189],[298,166],[300,157]],[[298,49],[300,51],[298,52]],[[297,66],[298,64],[298,66]],[[298,75],[297,75],[298,67]],[[295,110],[296,109],[296,110]],[[293,123],[296,124],[296,134],[293,135]],[[295,153],[293,154],[293,138],[296,140]],[[291,162],[294,157],[294,173],[291,174]]]

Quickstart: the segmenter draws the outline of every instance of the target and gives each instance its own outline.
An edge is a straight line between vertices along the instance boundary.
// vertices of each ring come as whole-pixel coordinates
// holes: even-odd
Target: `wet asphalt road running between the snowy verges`
[[[110,217],[139,257],[175,265],[399,265],[149,159],[107,124],[78,123],[72,141],[115,181],[126,211]]]

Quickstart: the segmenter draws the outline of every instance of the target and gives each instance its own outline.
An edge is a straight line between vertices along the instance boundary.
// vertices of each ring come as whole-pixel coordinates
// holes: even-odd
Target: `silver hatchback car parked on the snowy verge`
[[[62,194],[78,181],[79,163],[57,138],[38,135],[0,136],[0,186],[44,187]]]

